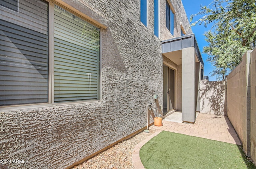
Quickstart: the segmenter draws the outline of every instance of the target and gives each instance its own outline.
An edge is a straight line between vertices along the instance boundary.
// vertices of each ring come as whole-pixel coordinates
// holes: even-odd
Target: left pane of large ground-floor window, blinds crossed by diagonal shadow
[[[48,102],[48,3],[28,1],[1,11],[0,106]]]

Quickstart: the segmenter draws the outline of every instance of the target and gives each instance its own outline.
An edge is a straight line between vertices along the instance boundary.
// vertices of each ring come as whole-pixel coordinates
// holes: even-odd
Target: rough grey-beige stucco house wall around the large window
[[[163,58],[160,39],[154,35],[154,1],[149,0],[148,28],[140,22],[139,0],[79,0],[87,8],[67,0],[58,2],[80,16],[92,18],[91,22],[103,28],[101,100],[0,110],[0,159],[28,161],[5,165],[12,169],[71,166],[145,127],[145,107],[154,103],[154,94],[159,95],[159,103],[163,104]],[[168,39],[170,35],[162,35],[166,29],[165,2],[160,1],[160,33],[161,38]],[[175,8],[179,6],[173,4]],[[177,14],[182,10],[180,4]],[[185,12],[178,16],[182,14]],[[184,17],[180,20],[188,24]]]

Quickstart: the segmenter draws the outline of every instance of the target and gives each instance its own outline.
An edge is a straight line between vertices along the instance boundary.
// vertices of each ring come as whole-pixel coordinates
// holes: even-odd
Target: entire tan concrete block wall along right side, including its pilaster
[[[256,161],[255,53],[247,51],[227,76],[227,115],[242,141],[244,151]]]

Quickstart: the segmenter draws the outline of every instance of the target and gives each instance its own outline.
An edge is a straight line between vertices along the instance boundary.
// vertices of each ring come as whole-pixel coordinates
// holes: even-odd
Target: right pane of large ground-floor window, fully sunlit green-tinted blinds
[[[54,6],[54,102],[99,99],[100,30]]]

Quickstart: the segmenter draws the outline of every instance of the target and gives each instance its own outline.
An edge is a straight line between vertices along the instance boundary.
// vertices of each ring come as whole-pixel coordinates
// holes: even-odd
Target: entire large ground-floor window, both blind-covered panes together
[[[49,9],[42,0],[19,0],[12,15],[0,6],[0,106],[99,99],[100,30]]]

